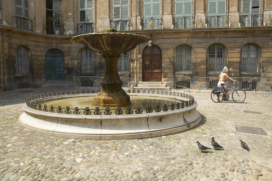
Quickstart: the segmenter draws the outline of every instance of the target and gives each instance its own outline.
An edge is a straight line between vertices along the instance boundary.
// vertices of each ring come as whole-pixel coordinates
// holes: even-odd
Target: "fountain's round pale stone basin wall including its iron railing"
[[[174,92],[161,93],[128,92],[131,98],[169,99],[173,101],[171,106],[154,105],[111,110],[54,106],[50,108],[39,104],[48,100],[80,97],[84,99],[95,94],[36,96],[28,99],[23,105],[24,113],[19,117],[19,122],[50,136],[93,140],[140,139],[175,134],[191,129],[201,122],[201,114],[196,109],[198,104],[192,96]]]

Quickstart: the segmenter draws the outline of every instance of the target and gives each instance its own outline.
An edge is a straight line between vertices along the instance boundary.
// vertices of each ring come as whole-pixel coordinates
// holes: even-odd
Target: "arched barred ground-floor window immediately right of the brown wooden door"
[[[175,49],[175,72],[192,71],[192,47],[179,45]]]

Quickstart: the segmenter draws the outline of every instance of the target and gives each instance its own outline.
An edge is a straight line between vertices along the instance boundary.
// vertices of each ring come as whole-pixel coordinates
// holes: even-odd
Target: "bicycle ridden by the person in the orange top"
[[[233,82],[232,82],[233,83]],[[236,82],[233,83],[233,86],[229,89],[229,92],[225,93],[224,88],[222,87],[213,87],[211,93],[211,99],[215,103],[221,103],[223,100],[227,101],[229,95],[232,94],[232,100],[235,103],[242,103],[246,98],[246,94],[243,89],[236,86]]]

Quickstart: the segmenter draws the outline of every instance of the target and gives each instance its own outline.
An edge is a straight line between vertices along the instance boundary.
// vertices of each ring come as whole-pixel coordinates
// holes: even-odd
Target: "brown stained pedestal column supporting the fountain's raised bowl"
[[[101,82],[102,89],[95,96],[94,106],[130,106],[130,97],[122,89],[122,81],[117,70],[117,62],[121,53],[102,53],[106,61],[106,73]]]

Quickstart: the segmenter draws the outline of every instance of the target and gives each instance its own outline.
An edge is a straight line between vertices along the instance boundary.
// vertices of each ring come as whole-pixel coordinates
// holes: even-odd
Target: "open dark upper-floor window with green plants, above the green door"
[[[46,0],[46,31],[47,34],[61,32],[61,4],[60,0]]]

